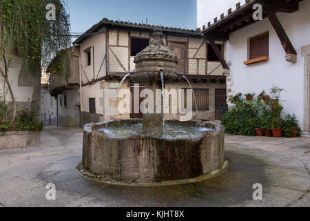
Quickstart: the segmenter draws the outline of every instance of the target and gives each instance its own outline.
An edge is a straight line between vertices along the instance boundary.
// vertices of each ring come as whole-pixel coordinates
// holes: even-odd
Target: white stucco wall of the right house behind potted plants
[[[225,12],[238,1],[211,1],[198,0],[198,26],[209,20],[213,21],[214,13]],[[213,7],[213,10],[210,9]],[[204,8],[204,10],[203,10]],[[233,7],[233,10],[236,6]],[[284,114],[295,113],[300,127],[304,120],[304,57],[301,56],[301,47],[310,44],[310,1],[300,2],[300,9],[293,14],[278,13],[282,23],[298,57],[296,63],[285,60],[278,35],[271,26],[269,19],[256,22],[247,28],[242,28],[232,33],[227,41],[227,61],[231,61],[231,80],[227,86],[231,86],[231,94],[256,93],[262,90],[269,91],[273,85],[284,88],[282,93]],[[205,13],[205,14],[204,14]],[[206,15],[207,14],[207,15]],[[206,23],[204,23],[206,24]],[[269,31],[269,61],[246,66],[248,39]]]

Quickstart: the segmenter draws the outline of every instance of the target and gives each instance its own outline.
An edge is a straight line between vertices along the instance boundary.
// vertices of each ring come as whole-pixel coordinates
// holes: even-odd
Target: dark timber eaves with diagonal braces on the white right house
[[[231,11],[231,8],[228,10],[228,15],[221,19],[214,19],[214,23],[211,25],[211,22],[208,23],[208,27],[204,28],[202,34],[205,39],[208,39],[209,44],[214,48],[214,40],[227,41],[229,39],[229,34],[235,32],[241,28],[255,23],[252,18],[254,13],[253,6],[255,3],[260,3],[263,9],[262,18],[268,18],[274,30],[276,31],[282,47],[284,48],[287,55],[293,54],[297,55],[296,50],[293,48],[289,37],[287,36],[282,24],[280,23],[278,17],[276,16],[277,12],[293,13],[298,10],[299,2],[302,0],[246,0],[245,5],[240,6],[240,3],[237,3],[236,10]],[[216,48],[214,48],[216,52]],[[220,55],[216,52],[218,59],[221,61],[223,67],[227,66],[224,61],[223,55]],[[225,64],[224,64],[225,63]],[[227,66],[228,67],[228,66]],[[226,68],[227,68],[226,67]]]

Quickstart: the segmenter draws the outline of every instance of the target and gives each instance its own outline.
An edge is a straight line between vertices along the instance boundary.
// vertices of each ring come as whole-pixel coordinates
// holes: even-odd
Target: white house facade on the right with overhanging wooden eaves
[[[262,6],[261,21],[252,17],[256,3]],[[226,42],[227,95],[284,88],[284,113],[295,113],[303,131],[310,129],[309,11],[310,1],[300,0],[198,0],[205,39]]]

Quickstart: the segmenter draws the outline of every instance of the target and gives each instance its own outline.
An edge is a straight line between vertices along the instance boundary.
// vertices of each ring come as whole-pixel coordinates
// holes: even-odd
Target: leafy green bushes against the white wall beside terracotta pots
[[[265,96],[265,90],[260,93],[254,100],[246,100],[242,98],[242,94],[238,93],[231,96],[229,101],[234,104],[231,111],[227,111],[222,117],[222,124],[225,125],[225,133],[234,135],[256,135],[255,128],[264,131],[270,131],[271,128],[282,128],[285,137],[291,137],[294,129],[298,127],[298,119],[296,115],[287,115],[282,119],[281,113],[283,106],[281,105],[280,94],[283,89],[273,86],[270,89],[272,99],[263,102],[262,96]],[[253,95],[253,94],[246,94]],[[254,95],[253,95],[254,96]],[[301,130],[298,128],[298,136]]]

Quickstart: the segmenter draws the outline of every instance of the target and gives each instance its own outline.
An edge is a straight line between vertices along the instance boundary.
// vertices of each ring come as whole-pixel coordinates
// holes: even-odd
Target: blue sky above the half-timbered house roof
[[[196,0],[67,0],[71,32],[83,33],[106,17],[196,29]]]

